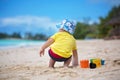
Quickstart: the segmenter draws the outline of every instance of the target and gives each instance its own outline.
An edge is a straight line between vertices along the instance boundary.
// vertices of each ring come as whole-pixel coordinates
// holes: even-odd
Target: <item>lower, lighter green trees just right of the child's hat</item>
[[[98,38],[98,24],[86,24],[78,22],[76,25],[75,32],[73,36],[76,39],[91,39],[91,38]]]

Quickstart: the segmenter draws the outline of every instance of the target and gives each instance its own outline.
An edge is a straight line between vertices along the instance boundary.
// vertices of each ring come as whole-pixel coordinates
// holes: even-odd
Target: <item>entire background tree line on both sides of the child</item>
[[[105,38],[109,35],[112,27],[110,25],[105,25],[109,20],[114,17],[120,16],[120,5],[114,6],[106,17],[99,17],[99,23],[89,24],[90,18],[86,18],[84,22],[77,22],[75,32],[73,36],[76,39],[90,39],[90,38]],[[9,35],[7,33],[0,33],[1,38],[19,38],[19,39],[34,39],[34,40],[46,40],[48,36],[45,34],[35,34],[33,35],[30,32],[25,33],[24,38],[20,33],[13,33]]]

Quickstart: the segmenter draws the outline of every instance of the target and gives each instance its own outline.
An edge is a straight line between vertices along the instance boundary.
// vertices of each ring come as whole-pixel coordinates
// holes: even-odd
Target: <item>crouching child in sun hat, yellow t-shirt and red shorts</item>
[[[71,60],[72,65],[78,66],[78,53],[76,49],[76,40],[72,36],[75,25],[70,20],[63,20],[62,23],[57,25],[59,32],[51,36],[40,48],[40,56],[44,55],[47,47],[49,49],[49,67],[54,68],[56,61],[64,62],[64,66],[68,67]]]

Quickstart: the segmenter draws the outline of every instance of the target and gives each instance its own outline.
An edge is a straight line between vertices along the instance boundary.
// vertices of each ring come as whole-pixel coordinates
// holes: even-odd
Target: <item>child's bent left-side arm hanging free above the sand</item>
[[[40,56],[44,55],[44,51],[47,47],[49,47],[54,42],[54,39],[49,38],[45,44],[40,48]]]

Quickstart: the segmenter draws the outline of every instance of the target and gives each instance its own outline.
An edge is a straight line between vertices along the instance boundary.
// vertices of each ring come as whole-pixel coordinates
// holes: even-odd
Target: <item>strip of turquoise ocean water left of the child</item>
[[[41,45],[44,42],[42,40],[0,39],[0,48]]]

